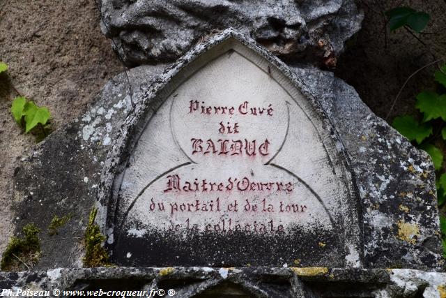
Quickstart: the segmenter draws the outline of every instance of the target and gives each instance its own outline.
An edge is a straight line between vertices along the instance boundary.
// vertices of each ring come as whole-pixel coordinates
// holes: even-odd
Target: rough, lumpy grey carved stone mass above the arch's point
[[[101,0],[102,31],[125,64],[175,61],[210,33],[233,27],[284,59],[334,66],[360,29],[355,0]]]

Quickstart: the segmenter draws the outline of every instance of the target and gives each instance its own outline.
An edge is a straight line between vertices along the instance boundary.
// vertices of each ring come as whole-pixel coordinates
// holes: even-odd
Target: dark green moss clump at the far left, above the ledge
[[[5,271],[31,269],[40,259],[40,229],[33,223],[22,228],[22,237],[11,237],[1,258],[0,268]]]

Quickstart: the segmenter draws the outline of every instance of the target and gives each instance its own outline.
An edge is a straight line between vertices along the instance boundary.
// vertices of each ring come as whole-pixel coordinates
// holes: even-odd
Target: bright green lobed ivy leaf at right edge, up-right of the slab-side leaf
[[[415,107],[424,112],[424,122],[440,117],[446,121],[446,94],[438,95],[433,91],[422,91],[417,95]]]

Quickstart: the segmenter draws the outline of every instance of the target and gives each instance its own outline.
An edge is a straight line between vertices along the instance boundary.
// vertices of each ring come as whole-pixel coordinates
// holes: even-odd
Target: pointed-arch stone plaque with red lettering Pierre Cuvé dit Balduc
[[[139,100],[100,204],[114,262],[359,266],[358,202],[317,98],[252,40],[198,45]]]

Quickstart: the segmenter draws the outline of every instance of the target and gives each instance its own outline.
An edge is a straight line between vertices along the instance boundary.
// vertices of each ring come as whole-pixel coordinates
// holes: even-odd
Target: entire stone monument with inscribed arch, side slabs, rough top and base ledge
[[[125,64],[155,65],[17,165],[16,231],[42,255],[0,288],[445,297],[429,156],[316,67],[361,20],[351,0],[102,0]],[[92,209],[116,267],[83,265]]]

